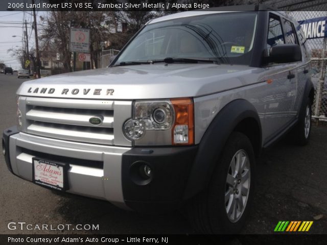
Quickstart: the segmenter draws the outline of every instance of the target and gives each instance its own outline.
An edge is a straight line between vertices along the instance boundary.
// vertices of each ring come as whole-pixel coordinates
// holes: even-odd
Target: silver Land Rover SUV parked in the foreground
[[[9,170],[125,209],[186,206],[201,232],[239,232],[261,150],[289,131],[308,143],[314,88],[295,20],[218,10],[149,21],[109,68],[22,84]]]

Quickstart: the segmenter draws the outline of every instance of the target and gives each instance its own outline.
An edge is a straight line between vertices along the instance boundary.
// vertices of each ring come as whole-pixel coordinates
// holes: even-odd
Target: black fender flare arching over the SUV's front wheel
[[[254,106],[243,99],[228,103],[213,119],[200,141],[198,152],[186,183],[184,200],[192,198],[208,185],[230,133],[239,122],[246,118],[253,118],[258,122],[261,150],[261,122]]]

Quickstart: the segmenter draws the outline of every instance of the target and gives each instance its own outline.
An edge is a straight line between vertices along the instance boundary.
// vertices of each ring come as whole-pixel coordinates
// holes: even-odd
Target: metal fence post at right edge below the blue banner
[[[320,76],[319,76],[319,82],[317,84],[316,104],[315,104],[315,113],[314,113],[314,116],[316,116],[316,117],[319,117],[320,108],[321,108],[323,83],[325,81],[326,60],[324,58],[325,58],[326,44],[327,44],[327,38],[323,38],[323,45],[322,45],[322,50],[321,50],[322,60],[320,63]],[[319,119],[318,119],[318,121],[319,121]]]

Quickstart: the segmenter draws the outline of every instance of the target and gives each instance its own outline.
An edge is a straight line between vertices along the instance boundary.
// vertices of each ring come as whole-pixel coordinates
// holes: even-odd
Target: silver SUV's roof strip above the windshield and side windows
[[[225,12],[242,12],[242,11],[275,11],[285,15],[284,12],[279,11],[278,9],[272,8],[265,4],[259,5],[236,5],[236,6],[224,6],[224,7],[216,7],[216,8],[208,8],[205,10],[192,10],[179,12],[176,14],[170,14],[166,16],[162,16],[156,19],[149,20],[147,24],[153,24],[161,21],[184,18],[190,16],[198,16],[198,15],[207,15],[207,14],[217,14],[217,13],[225,13]]]

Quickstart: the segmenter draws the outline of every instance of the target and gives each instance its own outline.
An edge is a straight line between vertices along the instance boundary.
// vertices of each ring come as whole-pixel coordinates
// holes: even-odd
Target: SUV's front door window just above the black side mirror
[[[269,29],[268,29],[268,39],[267,39],[267,48],[268,50],[270,47],[285,43],[283,31],[282,31],[282,23],[275,16],[269,17]]]

